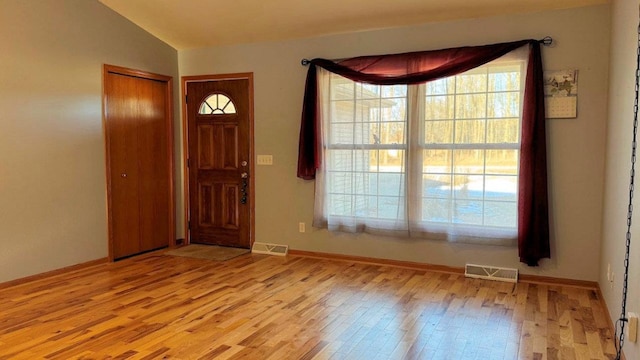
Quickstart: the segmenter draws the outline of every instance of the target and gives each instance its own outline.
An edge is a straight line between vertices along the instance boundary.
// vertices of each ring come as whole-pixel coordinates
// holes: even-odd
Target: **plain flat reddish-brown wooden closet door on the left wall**
[[[171,245],[172,79],[104,66],[109,258]]]

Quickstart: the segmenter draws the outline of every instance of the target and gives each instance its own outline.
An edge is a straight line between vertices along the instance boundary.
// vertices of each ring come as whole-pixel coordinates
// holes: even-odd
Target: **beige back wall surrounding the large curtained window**
[[[297,179],[297,142],[306,68],[302,58],[344,58],[553,36],[543,52],[550,70],[578,68],[579,117],[549,120],[552,259],[519,264],[509,247],[331,234],[311,229],[312,181]],[[255,145],[273,166],[255,169],[256,240],[292,249],[450,266],[467,262],[518,267],[524,273],[597,280],[607,104],[609,7],[437,23],[286,42],[179,52],[180,75],[255,74]],[[298,232],[305,222],[306,233]]]

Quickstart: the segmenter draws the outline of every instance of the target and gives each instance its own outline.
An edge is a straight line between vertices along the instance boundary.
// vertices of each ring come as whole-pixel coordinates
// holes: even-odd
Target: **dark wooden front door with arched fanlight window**
[[[185,82],[190,242],[251,247],[252,74]]]

